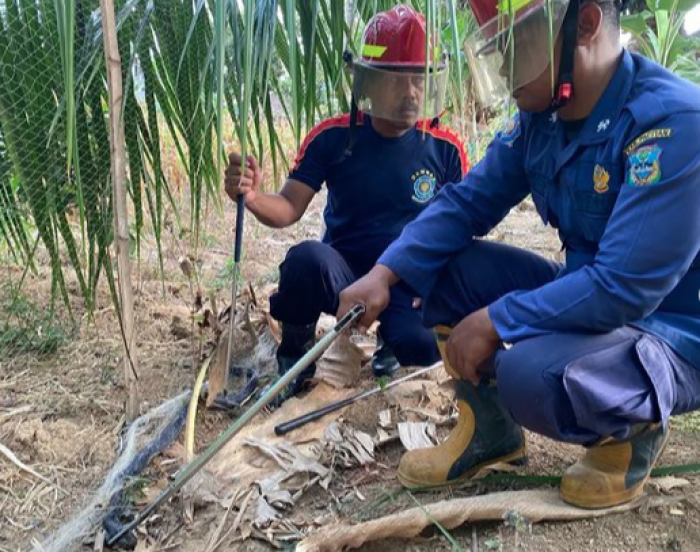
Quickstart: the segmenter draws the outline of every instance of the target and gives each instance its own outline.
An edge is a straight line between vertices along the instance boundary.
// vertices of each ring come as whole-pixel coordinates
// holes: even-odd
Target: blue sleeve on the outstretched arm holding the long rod
[[[426,297],[450,258],[486,235],[528,194],[523,141],[519,122],[499,134],[484,159],[459,184],[444,187],[378,263]]]

